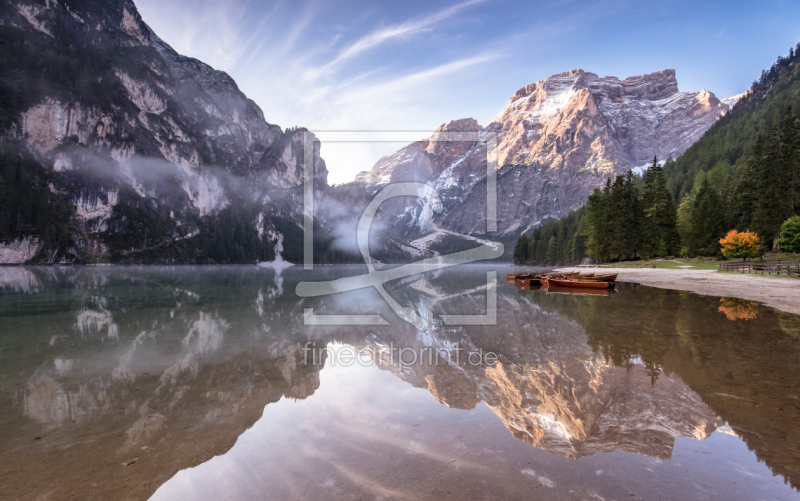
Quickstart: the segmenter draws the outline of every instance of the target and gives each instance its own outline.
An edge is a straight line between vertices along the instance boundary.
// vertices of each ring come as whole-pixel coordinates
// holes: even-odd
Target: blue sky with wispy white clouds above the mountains
[[[681,91],[723,98],[800,42],[796,0],[134,1],[175,50],[230,74],[268,122],[317,133],[330,183],[402,146],[337,143],[336,131],[412,131],[380,135],[409,141],[459,118],[485,126],[518,88],[576,68],[673,68]]]

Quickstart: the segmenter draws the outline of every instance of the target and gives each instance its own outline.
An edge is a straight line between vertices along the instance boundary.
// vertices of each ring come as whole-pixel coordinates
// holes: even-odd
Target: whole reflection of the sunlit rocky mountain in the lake
[[[436,291],[424,279],[410,285]],[[441,350],[451,363],[401,367],[385,352],[376,360],[449,407],[486,403],[515,438],[571,458],[620,449],[669,459],[676,438],[703,439],[725,423],[678,376],[638,358],[615,365],[593,351],[580,324],[508,296],[499,300],[497,326],[448,328],[430,315],[424,333],[395,331],[390,341],[416,352]],[[430,301],[420,301],[419,311],[432,311]],[[463,309],[470,300],[437,291],[434,302]],[[453,346],[463,348],[458,363]],[[468,353],[479,351],[499,362],[471,363]]]

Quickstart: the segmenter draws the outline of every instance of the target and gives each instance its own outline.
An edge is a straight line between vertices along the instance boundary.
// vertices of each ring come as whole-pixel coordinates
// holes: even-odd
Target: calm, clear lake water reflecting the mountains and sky
[[[502,267],[387,284],[421,330],[294,292],[364,271],[0,268],[0,498],[800,499],[798,316]],[[496,325],[444,325],[487,271]]]

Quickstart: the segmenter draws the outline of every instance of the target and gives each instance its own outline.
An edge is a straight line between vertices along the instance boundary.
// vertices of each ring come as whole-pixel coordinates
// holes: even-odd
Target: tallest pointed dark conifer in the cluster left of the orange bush
[[[657,158],[653,158],[653,166],[645,172],[643,181],[642,254],[648,258],[674,254],[680,245],[677,208]]]

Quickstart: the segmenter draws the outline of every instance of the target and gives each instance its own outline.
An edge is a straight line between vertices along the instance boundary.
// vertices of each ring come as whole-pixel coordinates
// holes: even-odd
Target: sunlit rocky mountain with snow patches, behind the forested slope
[[[437,143],[436,136],[469,131],[484,140],[496,134],[498,231],[500,238],[515,238],[582,206],[607,178],[644,168],[654,155],[677,157],[729,109],[711,92],[680,92],[674,70],[624,80],[573,70],[522,87],[485,127],[471,118],[440,126],[356,181],[430,182],[442,196],[443,213],[431,225],[428,212],[412,202],[395,226],[412,234],[483,234],[486,143]]]

